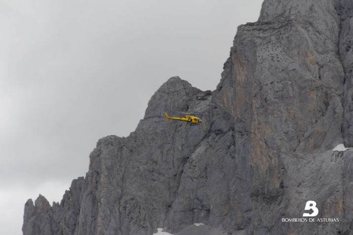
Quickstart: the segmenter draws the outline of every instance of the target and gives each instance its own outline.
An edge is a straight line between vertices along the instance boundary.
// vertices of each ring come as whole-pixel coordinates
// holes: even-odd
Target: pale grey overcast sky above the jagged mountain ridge
[[[261,2],[0,0],[0,234],[22,234],[27,199],[60,201],[169,77],[214,90]]]

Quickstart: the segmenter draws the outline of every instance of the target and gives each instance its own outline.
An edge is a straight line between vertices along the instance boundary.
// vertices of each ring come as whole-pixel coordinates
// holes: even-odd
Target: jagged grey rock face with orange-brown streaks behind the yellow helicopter
[[[228,235],[352,235],[353,2],[265,0],[222,79],[170,78],[128,137],[107,136],[61,203],[25,205],[24,235],[152,235],[202,222]],[[164,112],[194,112],[197,127]],[[339,222],[302,217],[306,201]],[[185,231],[185,230],[184,230]]]

